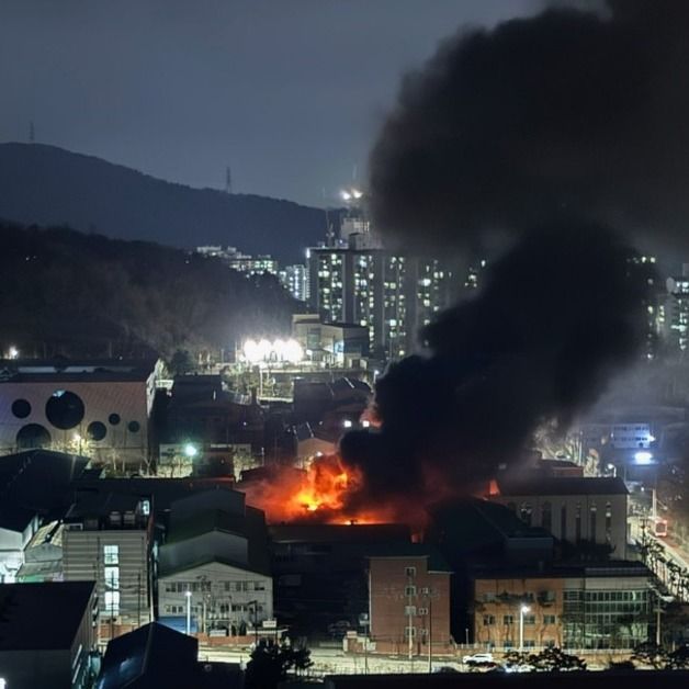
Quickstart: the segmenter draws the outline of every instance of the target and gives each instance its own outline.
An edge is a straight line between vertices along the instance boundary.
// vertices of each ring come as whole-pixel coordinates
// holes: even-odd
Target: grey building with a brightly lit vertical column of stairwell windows
[[[95,580],[102,639],[151,620],[150,500],[131,495],[82,495],[65,517],[65,580]]]

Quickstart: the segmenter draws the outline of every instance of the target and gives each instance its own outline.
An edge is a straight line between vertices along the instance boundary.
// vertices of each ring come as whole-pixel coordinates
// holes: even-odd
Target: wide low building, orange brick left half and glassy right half
[[[635,562],[478,569],[474,643],[505,651],[632,648],[650,637],[650,581]]]

